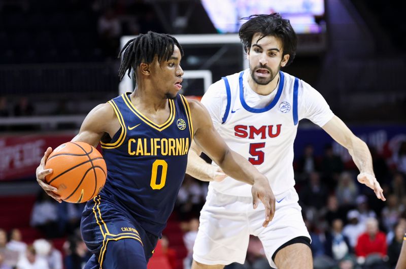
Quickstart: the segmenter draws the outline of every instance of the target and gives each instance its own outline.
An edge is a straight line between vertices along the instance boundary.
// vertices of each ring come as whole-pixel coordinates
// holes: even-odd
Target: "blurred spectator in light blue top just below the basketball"
[[[46,238],[60,237],[57,209],[58,202],[41,190],[32,208],[31,226],[38,228]]]

